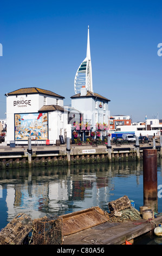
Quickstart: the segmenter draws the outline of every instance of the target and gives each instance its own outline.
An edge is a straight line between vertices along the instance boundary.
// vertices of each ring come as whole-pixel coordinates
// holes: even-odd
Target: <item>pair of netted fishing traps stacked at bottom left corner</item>
[[[18,214],[0,232],[0,245],[60,245],[62,241],[62,218],[56,216],[31,220]]]

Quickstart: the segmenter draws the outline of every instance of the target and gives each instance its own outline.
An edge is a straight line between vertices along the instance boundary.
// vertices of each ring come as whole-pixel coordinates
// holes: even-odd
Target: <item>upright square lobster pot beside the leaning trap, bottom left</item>
[[[33,245],[61,245],[62,218],[44,216],[34,220]]]

